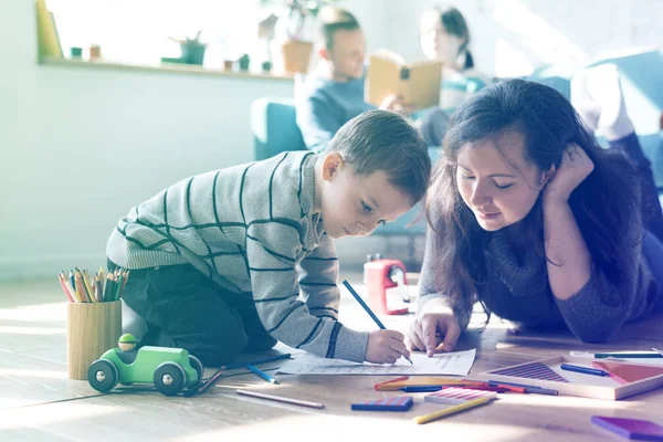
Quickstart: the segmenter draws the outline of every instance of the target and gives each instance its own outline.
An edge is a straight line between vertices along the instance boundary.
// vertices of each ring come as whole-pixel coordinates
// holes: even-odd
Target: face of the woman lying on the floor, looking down
[[[457,155],[456,183],[478,225],[497,231],[524,219],[548,180],[525,157],[523,135],[467,143]]]

